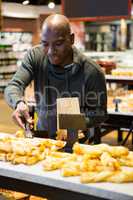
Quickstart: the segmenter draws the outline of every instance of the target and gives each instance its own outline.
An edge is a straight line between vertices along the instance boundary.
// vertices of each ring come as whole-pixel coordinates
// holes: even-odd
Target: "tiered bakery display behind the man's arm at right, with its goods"
[[[133,144],[133,51],[86,52],[85,55],[100,64],[107,82],[108,119],[101,125],[101,136],[117,130],[120,144],[124,145],[131,134]]]

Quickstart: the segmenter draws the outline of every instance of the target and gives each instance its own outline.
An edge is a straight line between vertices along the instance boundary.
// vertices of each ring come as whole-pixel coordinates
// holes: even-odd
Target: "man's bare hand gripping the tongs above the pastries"
[[[20,102],[17,105],[16,110],[12,114],[13,121],[20,126],[21,128],[25,129],[25,122],[32,124],[32,119],[29,115],[28,106],[24,102]]]

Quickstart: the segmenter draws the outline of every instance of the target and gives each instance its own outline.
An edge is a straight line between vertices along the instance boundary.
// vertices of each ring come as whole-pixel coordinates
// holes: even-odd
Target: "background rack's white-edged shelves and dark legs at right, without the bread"
[[[133,77],[106,75],[106,81],[109,83],[133,85]],[[112,130],[118,131],[118,142],[122,145],[127,142],[130,134],[132,134],[133,144],[133,113],[108,110],[108,119],[101,125],[101,135],[105,135]],[[127,136],[124,139],[123,131],[125,130],[127,131]]]

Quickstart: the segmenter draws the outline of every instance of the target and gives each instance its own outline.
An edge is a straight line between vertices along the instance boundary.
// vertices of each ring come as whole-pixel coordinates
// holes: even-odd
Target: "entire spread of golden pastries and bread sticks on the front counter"
[[[81,183],[133,182],[133,152],[123,146],[75,143],[73,153],[58,151],[65,142],[40,138],[0,137],[0,160],[33,165],[61,176],[79,176]]]

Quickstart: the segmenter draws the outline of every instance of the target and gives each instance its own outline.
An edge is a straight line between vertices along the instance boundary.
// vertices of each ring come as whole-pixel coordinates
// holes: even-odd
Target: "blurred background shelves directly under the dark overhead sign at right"
[[[133,49],[132,20],[85,22],[85,48],[88,51]]]

